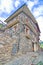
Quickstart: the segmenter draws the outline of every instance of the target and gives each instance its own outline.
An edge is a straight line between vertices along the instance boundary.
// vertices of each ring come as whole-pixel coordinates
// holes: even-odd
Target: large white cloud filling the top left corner
[[[2,12],[6,12],[6,13],[10,13],[13,9],[13,5],[12,5],[13,1],[12,0],[1,0],[1,4],[0,4],[0,14]]]

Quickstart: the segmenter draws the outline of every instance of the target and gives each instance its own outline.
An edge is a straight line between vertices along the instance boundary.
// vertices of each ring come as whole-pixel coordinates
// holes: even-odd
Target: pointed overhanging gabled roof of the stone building
[[[32,13],[30,12],[30,10],[29,10],[29,8],[27,7],[26,4],[23,4],[20,8],[18,8],[11,16],[9,16],[9,17],[5,20],[5,22],[8,23],[9,21],[11,21],[14,17],[16,17],[16,16],[17,16],[19,13],[21,13],[21,12],[24,12],[26,15],[28,15],[28,16],[33,20],[34,23],[37,23],[37,21],[35,20],[34,16],[33,16]],[[38,30],[39,30],[39,32],[40,32],[38,23],[37,23],[36,26],[37,26],[37,28],[38,28]]]

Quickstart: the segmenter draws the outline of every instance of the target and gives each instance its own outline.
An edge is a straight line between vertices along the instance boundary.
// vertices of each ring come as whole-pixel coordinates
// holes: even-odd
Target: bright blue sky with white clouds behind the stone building
[[[0,0],[0,20],[4,21],[24,3],[37,20],[43,40],[43,0]]]

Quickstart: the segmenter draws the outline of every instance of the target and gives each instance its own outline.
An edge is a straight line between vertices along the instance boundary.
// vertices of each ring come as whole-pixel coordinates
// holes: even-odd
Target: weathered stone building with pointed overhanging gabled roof
[[[39,50],[40,29],[25,4],[8,17],[5,22],[7,25],[0,30],[1,59],[5,58],[6,60],[17,52],[27,53]]]

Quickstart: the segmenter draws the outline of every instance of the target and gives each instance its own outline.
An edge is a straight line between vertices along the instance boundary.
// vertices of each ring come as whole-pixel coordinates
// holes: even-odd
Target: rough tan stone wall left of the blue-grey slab
[[[12,49],[16,44],[17,39],[12,38],[7,32],[1,32],[0,34],[0,62],[5,62],[11,59],[13,54]],[[17,49],[17,48],[14,48]],[[14,50],[16,53],[17,50]]]

